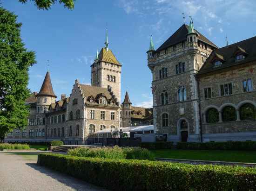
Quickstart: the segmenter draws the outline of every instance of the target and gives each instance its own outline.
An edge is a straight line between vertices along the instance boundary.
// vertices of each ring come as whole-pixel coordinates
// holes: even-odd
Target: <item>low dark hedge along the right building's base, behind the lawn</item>
[[[256,151],[256,141],[178,142],[177,149],[250,150]]]

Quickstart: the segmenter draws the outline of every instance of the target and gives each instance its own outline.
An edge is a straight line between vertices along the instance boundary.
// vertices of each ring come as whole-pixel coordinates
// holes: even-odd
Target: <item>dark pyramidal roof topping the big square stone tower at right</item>
[[[198,34],[198,39],[202,42],[211,45],[215,48],[218,48],[215,44],[213,44],[208,38],[203,36],[200,32],[194,29],[194,31]],[[169,37],[156,51],[162,51],[170,46],[181,43],[182,41],[187,40],[187,35],[189,33],[189,25],[183,24],[171,37]]]

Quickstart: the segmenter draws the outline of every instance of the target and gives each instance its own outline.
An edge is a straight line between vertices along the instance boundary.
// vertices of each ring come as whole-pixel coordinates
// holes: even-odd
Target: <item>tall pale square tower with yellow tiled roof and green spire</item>
[[[121,64],[108,48],[108,30],[106,31],[105,47],[96,53],[91,65],[93,86],[108,88],[113,92],[116,102],[121,101]]]

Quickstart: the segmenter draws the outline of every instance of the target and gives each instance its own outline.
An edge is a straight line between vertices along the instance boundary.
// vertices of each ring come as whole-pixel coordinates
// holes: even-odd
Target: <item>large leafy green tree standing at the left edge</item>
[[[20,38],[17,16],[0,7],[0,137],[27,126],[28,69],[36,63]]]

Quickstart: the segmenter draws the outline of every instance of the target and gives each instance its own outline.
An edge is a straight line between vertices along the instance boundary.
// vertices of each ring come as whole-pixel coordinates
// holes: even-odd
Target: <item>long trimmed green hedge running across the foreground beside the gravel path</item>
[[[256,169],[40,153],[37,163],[114,191],[254,191]]]

